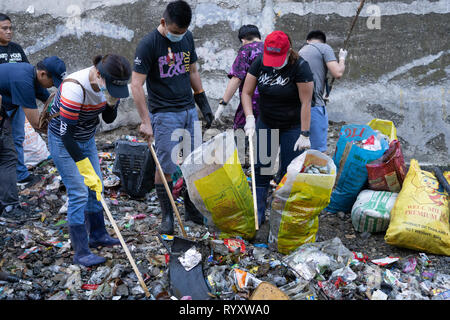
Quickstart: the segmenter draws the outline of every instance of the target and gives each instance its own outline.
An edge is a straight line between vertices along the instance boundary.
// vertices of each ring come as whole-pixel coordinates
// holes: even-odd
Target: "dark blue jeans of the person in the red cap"
[[[265,129],[265,130],[264,130]],[[280,165],[278,175],[286,173],[288,165],[302,154],[303,151],[294,151],[294,145],[300,137],[301,128],[271,129],[261,118],[256,121],[257,155],[255,164],[255,183],[257,187],[268,187],[272,179],[272,168],[278,149],[280,150]]]

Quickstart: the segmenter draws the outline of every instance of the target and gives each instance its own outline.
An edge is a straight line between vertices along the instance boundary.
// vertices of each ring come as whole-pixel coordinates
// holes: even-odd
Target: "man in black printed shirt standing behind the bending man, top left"
[[[13,26],[11,19],[0,13],[0,64],[1,63],[29,63],[28,58],[22,47],[12,42]],[[46,89],[41,88],[41,94],[38,98],[45,102],[49,97]],[[18,108],[12,119],[12,134],[14,145],[17,151],[17,181],[19,185],[31,186],[40,179],[38,176],[31,174],[25,166],[23,142],[25,140],[25,113],[22,108]]]

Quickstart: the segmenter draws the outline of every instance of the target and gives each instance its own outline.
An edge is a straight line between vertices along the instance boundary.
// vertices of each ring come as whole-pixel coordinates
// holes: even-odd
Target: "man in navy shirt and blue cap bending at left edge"
[[[39,125],[36,98],[42,89],[59,86],[66,66],[58,57],[45,58],[36,67],[29,63],[0,64],[0,214],[21,219],[27,214],[19,204],[17,192],[17,153],[11,118],[20,108],[33,127]]]

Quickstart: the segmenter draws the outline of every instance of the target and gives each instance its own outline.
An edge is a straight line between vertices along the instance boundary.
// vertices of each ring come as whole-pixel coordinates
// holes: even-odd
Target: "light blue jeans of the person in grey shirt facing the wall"
[[[320,152],[327,151],[328,136],[328,113],[325,106],[314,106],[311,108],[311,149]]]

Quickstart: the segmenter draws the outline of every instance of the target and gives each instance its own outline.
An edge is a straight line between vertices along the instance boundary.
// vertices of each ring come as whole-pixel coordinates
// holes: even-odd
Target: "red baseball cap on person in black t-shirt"
[[[291,44],[286,33],[274,31],[264,41],[263,65],[266,67],[280,67],[286,60]]]

